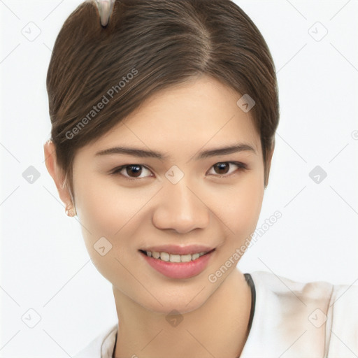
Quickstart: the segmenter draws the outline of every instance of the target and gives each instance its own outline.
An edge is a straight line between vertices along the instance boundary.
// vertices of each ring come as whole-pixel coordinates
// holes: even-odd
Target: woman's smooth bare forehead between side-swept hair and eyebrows
[[[92,152],[136,145],[194,154],[197,148],[246,143],[261,151],[250,113],[236,104],[241,94],[208,76],[169,87],[142,103],[92,145]]]

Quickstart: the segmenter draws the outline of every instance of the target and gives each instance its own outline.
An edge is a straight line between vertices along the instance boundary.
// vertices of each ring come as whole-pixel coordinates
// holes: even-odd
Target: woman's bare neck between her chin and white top
[[[115,358],[234,358],[248,338],[251,291],[237,269],[196,310],[169,324],[113,287],[118,315]]]

